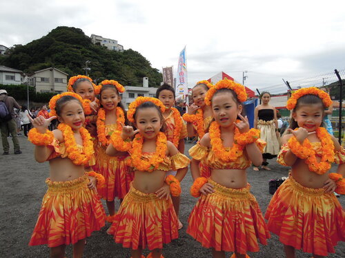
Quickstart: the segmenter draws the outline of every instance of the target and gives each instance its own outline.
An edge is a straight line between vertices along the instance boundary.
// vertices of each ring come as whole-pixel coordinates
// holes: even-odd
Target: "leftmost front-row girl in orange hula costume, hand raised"
[[[30,118],[34,129],[28,138],[36,145],[34,157],[38,162],[49,160],[50,177],[29,245],[48,244],[50,257],[64,257],[68,244],[73,245],[73,257],[82,257],[85,238],[105,223],[95,189],[97,174],[88,177],[84,169],[93,147],[90,133],[83,128],[81,101],[77,94],[60,94],[50,100],[50,118]],[[55,118],[58,129],[48,131]]]

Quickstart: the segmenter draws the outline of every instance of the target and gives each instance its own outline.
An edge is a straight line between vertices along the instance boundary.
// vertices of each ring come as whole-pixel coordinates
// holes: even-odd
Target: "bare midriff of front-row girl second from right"
[[[222,186],[233,189],[247,186],[247,173],[244,169],[212,169],[211,179]]]

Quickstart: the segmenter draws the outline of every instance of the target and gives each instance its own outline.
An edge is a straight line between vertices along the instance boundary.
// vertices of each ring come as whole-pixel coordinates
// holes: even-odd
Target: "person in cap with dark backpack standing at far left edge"
[[[0,131],[1,131],[1,139],[2,139],[2,146],[3,146],[3,155],[8,155],[10,151],[10,144],[8,143],[7,137],[8,133],[12,136],[12,141],[14,145],[14,154],[20,154],[20,145],[17,136],[17,124],[14,120],[16,114],[14,112],[14,107],[17,109],[21,109],[21,106],[17,103],[14,98],[8,96],[6,89],[0,89],[0,101],[5,103],[8,112],[12,116],[12,119],[8,121],[0,121]]]

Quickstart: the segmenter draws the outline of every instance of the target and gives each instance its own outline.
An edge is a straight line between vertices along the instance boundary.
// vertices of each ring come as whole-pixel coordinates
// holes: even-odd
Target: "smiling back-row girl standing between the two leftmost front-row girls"
[[[106,187],[99,191],[109,211],[108,221],[112,222],[115,215],[115,197],[124,199],[129,191],[130,182],[133,180],[133,173],[130,173],[125,158],[128,156],[117,155],[110,157],[106,155],[106,148],[110,142],[110,134],[121,130],[127,124],[124,105],[121,103],[120,94],[125,91],[124,86],[116,80],[103,80],[100,85],[101,108],[97,113],[97,140],[95,171],[101,173],[106,179]]]

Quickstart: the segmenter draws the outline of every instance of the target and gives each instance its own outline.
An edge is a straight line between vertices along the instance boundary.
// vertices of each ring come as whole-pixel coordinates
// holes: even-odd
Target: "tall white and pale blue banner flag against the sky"
[[[175,94],[176,98],[186,98],[188,96],[186,47],[179,53]]]

